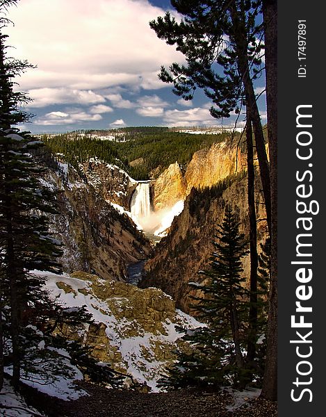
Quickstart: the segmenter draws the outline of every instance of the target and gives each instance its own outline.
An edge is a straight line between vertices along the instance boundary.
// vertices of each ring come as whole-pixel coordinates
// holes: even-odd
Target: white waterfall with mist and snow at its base
[[[171,208],[153,211],[149,194],[150,183],[140,182],[131,198],[131,215],[137,226],[145,234],[163,237],[166,234],[174,217],[184,209],[184,200],[179,200]]]

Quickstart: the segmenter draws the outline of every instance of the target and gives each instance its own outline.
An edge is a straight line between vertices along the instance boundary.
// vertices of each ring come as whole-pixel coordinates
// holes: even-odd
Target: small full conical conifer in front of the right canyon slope
[[[179,352],[177,363],[163,378],[166,386],[186,384],[221,384],[232,381],[242,385],[246,370],[242,347],[247,324],[247,291],[241,259],[247,254],[247,243],[239,233],[239,223],[231,208],[225,208],[225,218],[214,242],[211,269],[202,271],[204,284],[189,283],[202,296],[193,297],[192,305],[206,327],[186,332],[184,341],[189,350]]]

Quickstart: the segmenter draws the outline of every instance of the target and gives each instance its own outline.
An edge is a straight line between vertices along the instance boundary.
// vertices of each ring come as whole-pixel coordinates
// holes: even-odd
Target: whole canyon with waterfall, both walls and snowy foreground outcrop
[[[198,272],[209,268],[225,204],[248,236],[245,149],[231,139],[215,143],[147,181],[94,157],[79,170],[58,166],[44,183],[60,191],[51,228],[63,242],[64,275],[50,277],[49,288],[63,302],[89,306],[95,324],[83,340],[94,357],[155,391],[156,376],[174,360],[177,326],[199,325],[188,316],[197,295],[188,282],[202,282]],[[263,243],[258,175],[255,190]],[[248,257],[243,266],[248,276]]]

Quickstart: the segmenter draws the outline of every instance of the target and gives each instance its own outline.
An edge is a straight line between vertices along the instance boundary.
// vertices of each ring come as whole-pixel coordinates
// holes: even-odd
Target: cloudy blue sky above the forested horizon
[[[28,130],[220,125],[202,92],[185,102],[158,80],[161,65],[184,60],[149,28],[169,7],[167,0],[21,0],[11,8],[10,54],[38,66],[18,80],[33,99]]]

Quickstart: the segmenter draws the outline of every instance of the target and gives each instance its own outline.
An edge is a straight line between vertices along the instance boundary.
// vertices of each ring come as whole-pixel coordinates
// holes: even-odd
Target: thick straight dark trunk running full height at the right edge
[[[277,0],[263,0],[266,100],[270,152],[270,294],[266,367],[261,396],[277,400]]]

